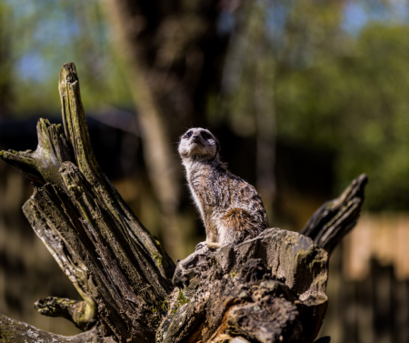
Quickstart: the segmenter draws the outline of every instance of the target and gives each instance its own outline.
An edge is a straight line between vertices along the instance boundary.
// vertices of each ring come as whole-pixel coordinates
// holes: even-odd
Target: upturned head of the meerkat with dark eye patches
[[[214,158],[219,153],[219,142],[202,127],[194,127],[180,137],[179,155],[184,161]]]

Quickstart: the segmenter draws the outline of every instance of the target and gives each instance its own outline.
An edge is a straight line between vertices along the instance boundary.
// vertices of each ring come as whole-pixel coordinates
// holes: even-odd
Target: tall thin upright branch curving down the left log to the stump
[[[63,66],[59,77],[59,90],[63,111],[65,136],[73,146],[75,164],[85,179],[95,190],[95,195],[121,224],[125,235],[133,238],[135,244],[145,247],[151,260],[164,277],[171,278],[175,264],[160,243],[152,237],[146,228],[126,206],[125,201],[111,185],[96,162],[94,150],[89,139],[85,121],[85,112],[81,102],[80,87],[74,63]]]

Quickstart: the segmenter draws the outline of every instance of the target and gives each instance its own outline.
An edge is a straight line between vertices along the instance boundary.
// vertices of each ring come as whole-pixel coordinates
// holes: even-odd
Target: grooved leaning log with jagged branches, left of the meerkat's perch
[[[121,341],[152,342],[164,312],[153,308],[174,288],[175,264],[98,166],[74,64],[63,66],[59,88],[65,133],[40,120],[35,152],[1,153],[35,185],[25,216],[85,300],[64,310],[36,306],[79,328],[104,323]]]

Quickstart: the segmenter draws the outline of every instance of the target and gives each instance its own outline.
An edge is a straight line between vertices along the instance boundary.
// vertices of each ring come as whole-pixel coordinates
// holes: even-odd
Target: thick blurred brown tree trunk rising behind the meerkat
[[[227,35],[218,35],[228,1],[103,0],[123,57],[143,129],[145,161],[163,213],[165,247],[185,256],[178,225],[183,172],[176,152],[186,127],[205,126],[206,99],[217,93]]]

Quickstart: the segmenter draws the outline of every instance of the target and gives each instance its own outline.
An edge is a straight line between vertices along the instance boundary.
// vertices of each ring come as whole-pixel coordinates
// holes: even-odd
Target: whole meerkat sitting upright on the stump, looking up
[[[261,197],[227,170],[219,150],[219,142],[205,128],[191,128],[180,137],[179,155],[206,232],[196,250],[237,244],[269,227]]]

